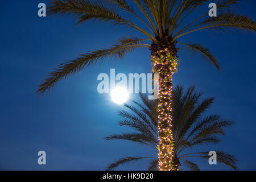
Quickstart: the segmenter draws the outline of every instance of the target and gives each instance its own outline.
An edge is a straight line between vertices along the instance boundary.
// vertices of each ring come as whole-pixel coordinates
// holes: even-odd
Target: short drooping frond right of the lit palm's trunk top
[[[209,59],[210,63],[213,63],[218,70],[220,69],[220,64],[218,63],[216,57],[209,51],[208,48],[204,47],[202,44],[186,44],[180,42],[177,43],[185,46],[188,49],[188,51],[192,52],[194,55],[195,53],[199,53],[203,56],[204,59]]]

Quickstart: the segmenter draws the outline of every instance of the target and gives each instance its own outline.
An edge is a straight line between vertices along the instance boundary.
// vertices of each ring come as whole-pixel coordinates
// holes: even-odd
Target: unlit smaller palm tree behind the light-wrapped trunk
[[[172,91],[172,122],[174,134],[174,158],[175,165],[179,168],[181,163],[191,170],[200,170],[197,164],[188,160],[189,158],[209,159],[209,151],[192,152],[193,147],[198,145],[218,144],[221,140],[217,135],[224,135],[224,127],[232,125],[232,121],[222,119],[220,115],[211,114],[203,117],[214,98],[210,97],[201,100],[202,93],[195,92],[195,87],[184,90],[183,86],[176,86]],[[129,140],[141,143],[145,146],[158,150],[158,101],[150,101],[143,94],[140,94],[142,102],[134,102],[134,106],[125,104],[127,110],[118,111],[123,117],[119,121],[119,126],[128,126],[137,132],[113,134],[105,137],[106,140]],[[131,112],[129,112],[131,111]],[[224,151],[216,151],[218,162],[237,169],[237,159],[233,155]],[[109,164],[107,170],[112,170],[120,164],[137,161],[141,159],[153,158],[148,170],[156,170],[159,163],[157,156],[139,157],[129,156]],[[188,159],[187,159],[188,158]],[[163,164],[166,165],[167,163]]]

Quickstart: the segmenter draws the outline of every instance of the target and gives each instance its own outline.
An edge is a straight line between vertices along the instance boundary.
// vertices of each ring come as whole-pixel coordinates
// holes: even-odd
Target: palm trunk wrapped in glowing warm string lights
[[[172,136],[172,75],[177,71],[175,49],[151,49],[151,60],[154,65],[153,72],[159,73],[158,94],[158,134],[159,134],[159,170],[176,171],[178,164],[174,159],[174,138]]]

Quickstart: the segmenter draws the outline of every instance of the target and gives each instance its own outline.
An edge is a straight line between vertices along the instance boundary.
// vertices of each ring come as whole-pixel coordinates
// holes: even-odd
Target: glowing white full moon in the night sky
[[[129,98],[129,94],[125,88],[116,87],[111,91],[111,98],[115,104],[123,104]]]

